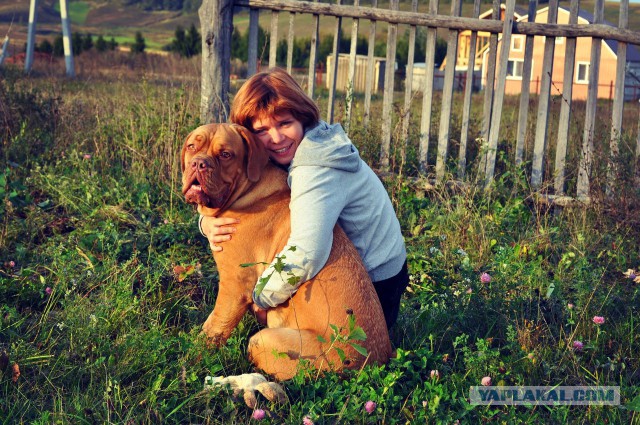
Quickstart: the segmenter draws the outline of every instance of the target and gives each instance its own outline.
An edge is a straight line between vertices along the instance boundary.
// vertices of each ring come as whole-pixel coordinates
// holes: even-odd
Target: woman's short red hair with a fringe
[[[230,121],[253,130],[256,119],[289,112],[305,131],[320,121],[320,111],[286,71],[271,68],[249,78],[231,105]]]

